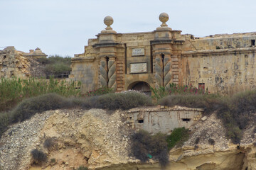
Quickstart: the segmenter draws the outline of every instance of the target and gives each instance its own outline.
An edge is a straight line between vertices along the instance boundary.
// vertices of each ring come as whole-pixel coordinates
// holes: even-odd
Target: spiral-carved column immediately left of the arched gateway
[[[113,88],[114,91],[117,89],[117,72],[116,72],[116,61],[115,57],[110,57],[108,61],[108,87]]]

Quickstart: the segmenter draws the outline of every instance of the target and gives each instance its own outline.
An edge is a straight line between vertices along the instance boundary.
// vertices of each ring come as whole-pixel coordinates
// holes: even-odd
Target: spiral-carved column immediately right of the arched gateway
[[[155,70],[156,70],[156,89],[158,89],[159,87],[163,86],[163,79],[164,79],[164,75],[163,75],[163,62],[162,62],[162,58],[161,55],[156,55],[156,60],[155,60]]]

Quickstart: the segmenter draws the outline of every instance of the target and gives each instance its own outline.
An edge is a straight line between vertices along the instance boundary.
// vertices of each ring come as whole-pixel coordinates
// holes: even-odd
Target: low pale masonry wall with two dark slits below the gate
[[[170,134],[175,128],[189,128],[201,120],[203,108],[134,108],[127,111],[127,125],[134,130]]]

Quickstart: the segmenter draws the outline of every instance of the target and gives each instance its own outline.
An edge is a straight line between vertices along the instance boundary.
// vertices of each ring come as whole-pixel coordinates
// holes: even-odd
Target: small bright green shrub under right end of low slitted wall
[[[166,141],[168,143],[168,149],[173,148],[175,145],[181,146],[183,142],[188,140],[188,129],[183,128],[175,128],[171,135],[166,137]],[[199,142],[199,141],[198,141]]]

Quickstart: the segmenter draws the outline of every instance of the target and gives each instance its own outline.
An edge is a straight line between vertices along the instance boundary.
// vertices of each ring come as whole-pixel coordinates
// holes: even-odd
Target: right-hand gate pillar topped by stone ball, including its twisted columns
[[[162,24],[154,30],[154,40],[150,42],[155,56],[155,81],[156,88],[168,88],[171,83],[180,83],[181,45],[185,39],[181,36],[181,30],[172,30],[167,26],[167,13],[161,13],[159,20]],[[161,55],[164,55],[164,58]]]

